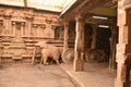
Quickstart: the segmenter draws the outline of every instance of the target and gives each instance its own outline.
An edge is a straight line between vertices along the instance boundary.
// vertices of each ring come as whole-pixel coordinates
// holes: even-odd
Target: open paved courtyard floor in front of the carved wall
[[[0,69],[0,87],[76,87],[59,65],[8,64]]]

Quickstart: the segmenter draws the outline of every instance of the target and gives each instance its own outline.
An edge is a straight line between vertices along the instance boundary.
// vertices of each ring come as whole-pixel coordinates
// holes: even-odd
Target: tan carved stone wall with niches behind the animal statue
[[[28,58],[33,58],[35,44],[55,39],[56,26],[60,26],[59,13],[0,5],[0,40],[3,47],[0,59],[2,62],[31,62]]]

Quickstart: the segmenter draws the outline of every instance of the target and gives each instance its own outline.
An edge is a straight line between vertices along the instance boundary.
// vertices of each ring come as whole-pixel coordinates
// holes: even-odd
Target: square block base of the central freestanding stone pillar
[[[84,71],[84,61],[81,59],[74,60],[73,69],[75,72]]]

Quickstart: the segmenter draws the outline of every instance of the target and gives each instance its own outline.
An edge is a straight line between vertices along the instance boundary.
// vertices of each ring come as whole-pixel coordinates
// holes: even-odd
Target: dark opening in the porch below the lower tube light
[[[110,36],[111,36],[110,28],[97,27],[97,30],[96,30],[96,49],[104,50],[105,62],[109,62],[109,54],[110,54],[109,37]]]

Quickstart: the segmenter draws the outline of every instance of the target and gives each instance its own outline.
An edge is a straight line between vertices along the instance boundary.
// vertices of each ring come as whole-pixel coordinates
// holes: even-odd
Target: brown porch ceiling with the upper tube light
[[[86,18],[86,23],[90,24],[110,24],[112,18],[117,18],[117,1],[112,0],[86,0],[83,2],[78,1],[78,3],[74,3],[69,10],[62,12],[60,16],[69,20],[75,20],[76,14],[81,14],[82,16],[84,16],[84,18]],[[102,17],[106,17],[106,20]]]

